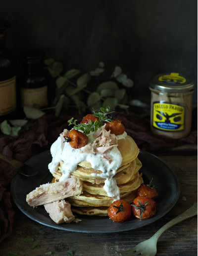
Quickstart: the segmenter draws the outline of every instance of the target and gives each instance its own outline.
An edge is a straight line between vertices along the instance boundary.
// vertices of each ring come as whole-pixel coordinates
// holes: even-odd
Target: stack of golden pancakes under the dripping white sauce
[[[136,190],[143,183],[142,175],[139,174],[142,167],[138,159],[139,149],[130,136],[118,140],[117,147],[122,155],[122,164],[113,178],[116,179],[120,189],[120,199],[131,203],[136,197]],[[63,161],[60,162],[58,171],[52,173],[55,181],[58,181],[62,175],[62,164]],[[107,192],[103,188],[105,178],[99,176],[101,173],[102,171],[93,169],[91,164],[86,161],[79,163],[77,169],[71,173],[71,175],[79,177],[84,185],[81,195],[67,198],[73,212],[108,216],[107,208],[114,198],[107,196]]]

